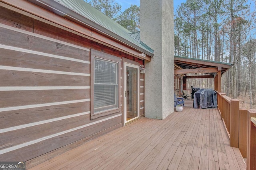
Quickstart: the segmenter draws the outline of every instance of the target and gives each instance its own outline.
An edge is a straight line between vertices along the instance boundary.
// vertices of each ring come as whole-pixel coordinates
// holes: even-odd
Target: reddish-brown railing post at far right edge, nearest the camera
[[[254,129],[254,125],[252,125],[251,122],[251,117],[256,117],[256,110],[255,109],[250,109],[248,111],[247,114],[247,121],[248,121],[248,126],[247,126],[247,162],[246,162],[246,169],[247,170],[254,170],[255,168],[253,168],[251,165],[256,165],[256,158],[255,158],[255,147],[256,147],[256,137],[253,136],[253,134],[251,134],[251,130],[256,130]],[[255,134],[254,134],[255,135]],[[252,148],[251,148],[252,147]],[[252,150],[254,149],[254,150]],[[251,154],[251,152],[253,152],[254,154],[254,158],[251,156],[253,156],[253,154]]]

